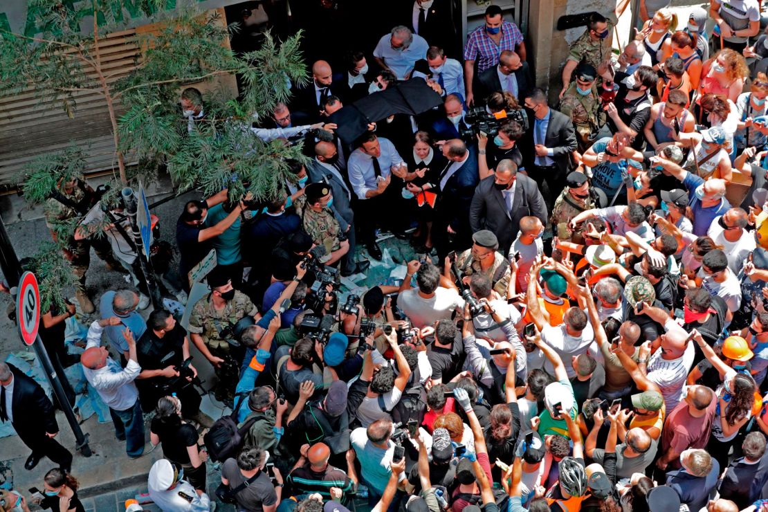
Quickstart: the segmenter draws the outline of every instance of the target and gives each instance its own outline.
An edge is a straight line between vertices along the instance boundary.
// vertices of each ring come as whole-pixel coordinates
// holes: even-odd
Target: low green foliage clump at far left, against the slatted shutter
[[[85,168],[85,153],[74,144],[59,153],[42,154],[32,160],[18,177],[23,183],[22,191],[28,203],[45,203],[56,190],[59,181],[82,177]]]

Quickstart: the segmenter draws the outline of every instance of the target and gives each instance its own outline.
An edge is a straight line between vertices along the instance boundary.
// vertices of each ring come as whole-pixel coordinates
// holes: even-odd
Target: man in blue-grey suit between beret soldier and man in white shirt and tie
[[[306,172],[310,175],[312,183],[323,182],[330,187],[333,207],[349,224],[349,231],[346,233],[349,250],[342,259],[342,276],[365,272],[370,266],[369,262],[355,263],[355,225],[353,223],[355,214],[350,205],[352,189],[344,180],[346,169],[339,164],[339,150],[336,144],[323,140],[315,144],[315,158],[306,165]]]

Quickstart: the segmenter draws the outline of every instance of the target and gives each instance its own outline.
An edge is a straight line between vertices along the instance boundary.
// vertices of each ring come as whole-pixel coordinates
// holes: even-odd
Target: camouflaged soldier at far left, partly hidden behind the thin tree
[[[62,178],[56,184],[56,190],[45,202],[43,212],[45,214],[45,224],[51,230],[51,236],[58,239],[61,233],[61,227],[68,224],[69,221],[78,219],[88,213],[91,207],[96,203],[96,193],[85,183],[82,177],[73,177],[70,180]],[[81,286],[78,286],[74,295],[77,297],[80,307],[86,314],[94,312],[94,304],[88,298],[85,292],[85,272],[91,263],[91,246],[96,251],[96,255],[104,260],[109,270],[127,273],[127,270],[114,258],[108,239],[100,236],[93,236],[87,239],[74,239],[74,231],[68,240],[64,242],[64,254],[72,265],[74,275],[80,279]]]

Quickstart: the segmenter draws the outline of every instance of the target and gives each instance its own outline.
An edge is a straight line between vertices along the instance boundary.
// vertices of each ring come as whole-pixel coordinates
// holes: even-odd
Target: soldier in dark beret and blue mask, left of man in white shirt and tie
[[[304,189],[303,200],[296,200],[296,213],[313,242],[326,248],[320,263],[333,265],[349,250],[346,230],[349,224],[331,206],[333,196],[326,183],[310,183]]]

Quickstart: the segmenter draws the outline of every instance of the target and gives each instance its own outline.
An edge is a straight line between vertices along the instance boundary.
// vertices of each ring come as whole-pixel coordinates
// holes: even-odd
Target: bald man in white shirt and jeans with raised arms
[[[141,457],[144,453],[144,415],[134,380],[141,373],[136,358],[136,341],[131,330],[125,328],[123,335],[128,344],[128,363],[121,368],[109,356],[107,348],[101,346],[101,334],[108,325],[120,325],[118,316],[97,320],[88,329],[88,342],[80,357],[83,373],[88,383],[98,391],[101,400],[109,407],[119,441],[126,441],[128,457]]]

